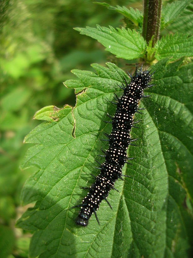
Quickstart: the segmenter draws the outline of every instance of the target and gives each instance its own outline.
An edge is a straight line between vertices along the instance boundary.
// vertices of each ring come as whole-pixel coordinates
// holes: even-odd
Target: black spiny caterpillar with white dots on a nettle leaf
[[[104,163],[100,164],[98,162],[100,164],[99,169],[101,173],[95,177],[95,182],[88,188],[89,192],[82,200],[82,204],[74,206],[81,207],[78,217],[76,218],[76,224],[84,227],[88,225],[88,220],[93,213],[99,223],[96,210],[98,210],[103,199],[111,207],[106,197],[111,189],[115,189],[115,181],[118,178],[122,179],[122,167],[125,163],[128,163],[127,160],[129,159],[126,154],[128,145],[134,145],[130,142],[136,140],[131,139],[129,134],[131,127],[136,127],[133,124],[139,122],[134,122],[134,113],[140,113],[138,111],[139,100],[142,97],[148,97],[144,96],[144,89],[154,85],[148,85],[153,73],[149,74],[149,71],[142,72],[142,66],[138,72],[136,65],[134,77],[129,73],[128,75],[131,78],[130,83],[127,84],[125,80],[125,85],[122,83],[123,87],[119,86],[124,90],[123,95],[118,98],[115,94],[117,103],[112,102],[117,105],[114,117],[107,114],[112,119],[112,132],[110,135],[105,134],[105,136],[108,137],[109,149],[106,152],[101,149],[105,155],[99,155],[105,157]]]

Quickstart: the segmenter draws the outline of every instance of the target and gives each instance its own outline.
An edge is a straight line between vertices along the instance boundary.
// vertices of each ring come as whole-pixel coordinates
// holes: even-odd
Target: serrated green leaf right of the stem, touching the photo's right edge
[[[188,34],[174,34],[162,37],[155,45],[155,58],[160,60],[171,57],[172,60],[183,56],[193,56],[193,36]]]

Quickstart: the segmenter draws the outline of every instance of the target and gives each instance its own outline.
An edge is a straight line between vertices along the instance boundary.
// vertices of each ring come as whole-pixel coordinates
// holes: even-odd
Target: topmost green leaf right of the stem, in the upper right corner
[[[174,21],[190,4],[190,0],[174,1],[162,8],[162,28]]]

